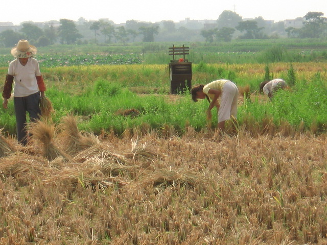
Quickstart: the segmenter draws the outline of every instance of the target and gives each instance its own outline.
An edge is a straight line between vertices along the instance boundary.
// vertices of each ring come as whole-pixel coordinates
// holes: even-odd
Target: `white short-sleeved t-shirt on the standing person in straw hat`
[[[39,91],[35,76],[41,76],[39,63],[35,58],[29,58],[26,65],[19,59],[10,62],[8,75],[14,76],[14,96],[25,97]]]

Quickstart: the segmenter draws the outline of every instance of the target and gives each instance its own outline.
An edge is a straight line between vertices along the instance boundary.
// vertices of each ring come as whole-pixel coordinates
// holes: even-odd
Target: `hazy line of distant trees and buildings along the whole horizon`
[[[77,22],[69,19],[60,19],[59,27],[51,22],[43,29],[33,22],[24,22],[18,32],[5,30],[0,33],[0,42],[11,47],[19,39],[28,39],[38,46],[54,43],[112,43],[143,41],[153,42],[155,36],[160,41],[192,41],[192,38],[202,38],[207,42],[231,41],[239,39],[278,38],[285,33],[287,37],[319,38],[327,36],[327,18],[321,12],[308,12],[303,17],[302,28],[289,27],[285,29],[284,22],[267,24],[261,16],[253,20],[243,20],[232,11],[223,11],[217,19],[215,28],[194,30],[187,26],[178,29],[171,20],[160,23],[139,22],[127,20],[125,25],[115,25],[112,21],[86,21],[81,17]],[[77,24],[78,23],[78,24]],[[102,37],[102,38],[100,38]]]

